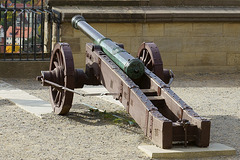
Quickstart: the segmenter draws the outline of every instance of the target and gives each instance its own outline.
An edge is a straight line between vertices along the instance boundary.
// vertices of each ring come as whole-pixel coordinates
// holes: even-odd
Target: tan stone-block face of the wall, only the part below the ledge
[[[91,23],[104,36],[123,43],[133,56],[142,42],[157,44],[164,65],[176,71],[237,70],[240,23]],[[61,26],[61,41],[72,48],[75,67],[85,66],[85,44],[92,43],[70,23]],[[193,71],[192,70],[192,71]]]

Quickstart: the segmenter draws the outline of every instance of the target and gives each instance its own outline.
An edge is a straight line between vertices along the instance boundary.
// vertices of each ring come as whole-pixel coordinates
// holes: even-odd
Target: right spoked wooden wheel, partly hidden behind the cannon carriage
[[[143,42],[138,50],[137,57],[144,65],[159,78],[163,79],[163,62],[155,43]]]

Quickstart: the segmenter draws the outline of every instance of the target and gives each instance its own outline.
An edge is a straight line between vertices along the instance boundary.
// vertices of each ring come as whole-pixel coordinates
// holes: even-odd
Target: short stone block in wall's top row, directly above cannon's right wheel
[[[164,35],[163,23],[146,23],[143,24],[143,36],[161,37]]]

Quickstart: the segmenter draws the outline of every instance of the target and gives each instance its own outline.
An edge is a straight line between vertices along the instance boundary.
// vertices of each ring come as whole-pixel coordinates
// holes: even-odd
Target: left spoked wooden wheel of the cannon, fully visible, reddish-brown
[[[51,81],[74,89],[74,63],[67,43],[57,43],[53,49],[49,72]],[[73,93],[50,86],[50,98],[56,114],[67,114],[72,106]]]

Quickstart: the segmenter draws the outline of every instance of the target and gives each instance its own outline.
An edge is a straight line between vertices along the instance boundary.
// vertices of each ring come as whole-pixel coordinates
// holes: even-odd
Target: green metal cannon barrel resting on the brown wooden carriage
[[[81,15],[72,18],[72,26],[81,30],[93,42],[100,45],[103,51],[111,58],[130,78],[140,78],[144,73],[144,64],[137,58],[131,56],[123,48],[119,47],[111,39],[104,37],[101,33],[91,27]]]

